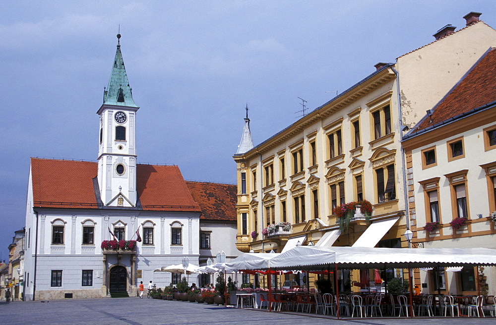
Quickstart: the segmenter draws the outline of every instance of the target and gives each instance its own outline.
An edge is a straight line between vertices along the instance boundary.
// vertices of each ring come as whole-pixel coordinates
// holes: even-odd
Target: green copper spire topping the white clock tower
[[[137,107],[132,100],[132,89],[129,87],[129,81],[125,73],[120,39],[121,34],[117,34],[116,58],[114,59],[109,85],[103,92],[103,104]]]

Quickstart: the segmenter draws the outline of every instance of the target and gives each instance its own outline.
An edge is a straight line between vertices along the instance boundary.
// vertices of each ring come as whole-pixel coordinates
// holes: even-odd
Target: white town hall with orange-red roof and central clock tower
[[[216,217],[205,218],[208,229],[202,233],[200,217],[208,207],[193,199],[179,167],[136,163],[137,111],[118,42],[97,111],[98,161],[31,159],[26,300],[135,295],[139,281],[149,280],[163,287],[180,276],[155,269],[181,264],[185,257],[190,264],[206,263],[217,253],[209,251],[216,237],[223,242],[236,235],[235,185],[233,194],[226,190],[218,198],[232,202],[225,204],[232,211],[220,211],[214,230],[208,224]],[[200,234],[208,237],[202,243]],[[138,235],[142,241],[134,242]],[[223,249],[228,260],[238,255],[234,242]]]

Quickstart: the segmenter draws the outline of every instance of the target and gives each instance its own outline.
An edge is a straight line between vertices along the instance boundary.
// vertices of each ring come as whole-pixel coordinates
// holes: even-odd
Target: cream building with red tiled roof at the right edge
[[[410,209],[417,217],[416,245],[496,249],[496,50],[481,55],[466,74],[405,136]],[[463,218],[455,229],[450,222]],[[434,224],[433,224],[434,223]],[[429,225],[433,229],[429,228]],[[479,294],[476,267],[421,270],[426,293]],[[489,294],[494,267],[479,268]],[[484,291],[484,290],[482,290]]]

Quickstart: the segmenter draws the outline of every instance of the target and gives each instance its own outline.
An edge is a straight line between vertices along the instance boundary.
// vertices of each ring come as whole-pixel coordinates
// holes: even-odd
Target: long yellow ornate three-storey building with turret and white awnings
[[[416,214],[406,209],[411,180],[402,133],[496,45],[496,31],[479,15],[465,16],[467,27],[456,32],[443,27],[433,43],[394,63],[376,64],[365,79],[259,145],[242,140],[247,151],[234,156],[238,249],[281,252],[298,242],[407,247],[403,234],[416,225]],[[372,204],[372,223],[352,214],[340,230],[333,207],[360,200]],[[279,222],[289,222],[290,230],[262,233]]]

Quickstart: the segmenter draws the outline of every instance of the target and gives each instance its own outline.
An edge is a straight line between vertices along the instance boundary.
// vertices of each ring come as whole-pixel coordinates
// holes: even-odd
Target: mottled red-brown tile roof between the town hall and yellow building
[[[236,221],[237,186],[186,181],[193,198],[201,207],[200,219]]]

